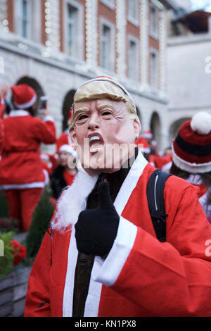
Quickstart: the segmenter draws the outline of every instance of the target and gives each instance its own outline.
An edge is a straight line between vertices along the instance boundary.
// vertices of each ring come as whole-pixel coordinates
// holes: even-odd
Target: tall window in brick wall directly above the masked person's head
[[[113,24],[101,20],[101,67],[112,71],[114,61]]]

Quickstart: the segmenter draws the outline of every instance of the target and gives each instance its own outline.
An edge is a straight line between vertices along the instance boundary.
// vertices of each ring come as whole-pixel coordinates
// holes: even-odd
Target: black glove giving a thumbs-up
[[[108,182],[98,185],[100,207],[79,213],[75,224],[75,238],[78,251],[104,256],[109,253],[117,235],[120,216],[110,198]]]

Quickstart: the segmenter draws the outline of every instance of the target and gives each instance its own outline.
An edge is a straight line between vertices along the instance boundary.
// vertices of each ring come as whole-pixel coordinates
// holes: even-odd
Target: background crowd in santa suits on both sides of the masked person
[[[4,190],[11,218],[20,221],[20,230],[27,231],[45,185],[51,186],[55,203],[63,189],[72,185],[78,156],[69,129],[56,138],[47,104],[39,109],[40,118],[35,116],[39,104],[32,87],[11,87],[12,101],[7,99],[8,91],[7,85],[0,88],[0,189]],[[199,187],[199,200],[211,223],[211,169],[201,165],[210,162],[210,116],[198,113],[184,123],[173,144],[164,151],[158,151],[151,130],[144,131],[135,144],[155,168]],[[68,128],[71,118],[70,108]],[[41,153],[41,143],[56,144],[56,152]]]

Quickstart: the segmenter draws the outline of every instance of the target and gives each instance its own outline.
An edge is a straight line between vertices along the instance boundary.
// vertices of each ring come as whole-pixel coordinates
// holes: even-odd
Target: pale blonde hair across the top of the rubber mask
[[[115,101],[123,101],[127,108],[127,113],[131,120],[136,120],[140,124],[139,117],[136,112],[136,107],[132,99],[124,93],[124,91],[113,82],[108,81],[92,81],[87,82],[75,92],[73,102],[73,115],[69,130],[75,126],[75,104],[82,101],[91,101],[96,99],[112,99]]]

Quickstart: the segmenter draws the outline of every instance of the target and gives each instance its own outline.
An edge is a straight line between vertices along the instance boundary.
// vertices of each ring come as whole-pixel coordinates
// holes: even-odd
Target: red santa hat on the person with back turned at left
[[[11,87],[13,91],[13,103],[18,109],[30,108],[37,99],[37,94],[27,84],[15,85]]]

